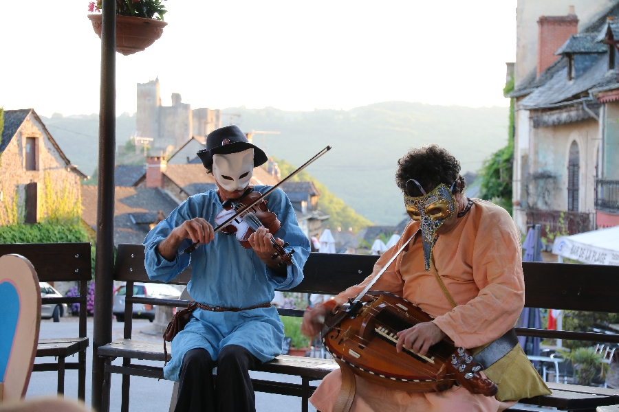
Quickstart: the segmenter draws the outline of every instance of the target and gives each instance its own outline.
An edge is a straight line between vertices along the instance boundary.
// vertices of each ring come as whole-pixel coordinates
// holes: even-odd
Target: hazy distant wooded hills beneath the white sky
[[[301,165],[327,145],[333,150],[308,168],[329,191],[372,222],[395,225],[404,218],[402,196],[393,176],[398,159],[411,147],[436,143],[450,150],[462,171],[475,171],[492,152],[506,145],[508,108],[437,106],[383,102],[349,111],[289,112],[277,108],[224,110],[246,132],[276,130],[280,135],[254,135],[254,144],[269,155]],[[98,116],[43,119],[67,157],[91,174],[97,161]],[[116,144],[133,135],[135,115],[116,119]]]

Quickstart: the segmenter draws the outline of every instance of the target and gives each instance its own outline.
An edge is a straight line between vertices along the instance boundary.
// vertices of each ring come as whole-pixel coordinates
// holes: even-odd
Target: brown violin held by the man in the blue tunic
[[[245,249],[252,249],[249,238],[259,227],[265,227],[272,235],[279,231],[281,227],[281,222],[277,216],[268,209],[265,198],[262,198],[259,203],[252,205],[261,195],[262,194],[259,192],[254,192],[253,187],[249,187],[240,198],[228,199],[225,201],[223,205],[224,210],[220,211],[215,217],[215,225],[218,227],[222,226],[220,231],[227,235],[236,235],[237,240],[241,242],[241,246]],[[237,214],[237,211],[243,209],[243,207],[247,205],[251,205],[249,209],[243,211],[239,216],[236,216],[227,225],[225,224],[230,216],[234,216]],[[282,247],[275,241],[274,237],[271,238],[271,243],[276,252],[272,256],[272,259],[276,260],[278,257],[281,257],[281,262],[278,264],[279,266],[284,266],[285,264],[288,266],[292,265],[292,254],[294,253],[294,249],[287,252],[284,247],[287,247],[288,244],[285,243]]]

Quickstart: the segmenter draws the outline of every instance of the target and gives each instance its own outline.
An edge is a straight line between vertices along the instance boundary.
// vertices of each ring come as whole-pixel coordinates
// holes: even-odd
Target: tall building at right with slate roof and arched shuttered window
[[[533,223],[545,235],[619,225],[619,3],[580,7],[518,2],[508,97],[515,100],[514,220],[523,232]]]

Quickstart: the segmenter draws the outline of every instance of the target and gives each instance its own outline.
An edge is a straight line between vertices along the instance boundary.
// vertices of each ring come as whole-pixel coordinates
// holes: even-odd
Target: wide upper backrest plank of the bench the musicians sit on
[[[133,255],[133,257],[131,257]],[[305,279],[293,292],[335,295],[362,282],[378,256],[310,253],[303,269]],[[525,306],[619,313],[619,266],[523,262]],[[144,269],[144,247],[120,244],[114,279],[151,282]],[[174,284],[187,284],[191,268]]]

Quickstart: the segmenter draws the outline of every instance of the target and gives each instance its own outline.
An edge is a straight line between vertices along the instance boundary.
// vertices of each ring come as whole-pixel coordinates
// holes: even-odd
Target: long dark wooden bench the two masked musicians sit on
[[[305,278],[296,288],[300,293],[334,295],[345,288],[362,282],[372,271],[378,256],[335,255],[311,253],[304,268]],[[619,268],[613,266],[574,264],[523,264],[525,272],[525,305],[531,308],[556,308],[564,310],[589,310],[595,312],[619,312]],[[122,374],[121,411],[129,411],[130,376],[161,378],[163,367],[131,363],[132,359],[164,361],[162,343],[133,341],[131,339],[131,313],[133,304],[186,306],[188,301],[133,297],[133,282],[151,282],[144,268],[144,247],[141,244],[120,244],[114,265],[114,279],[127,282],[125,297],[124,339],[101,346],[98,356],[105,359],[102,411],[109,410],[109,385],[111,374]],[[172,284],[187,284],[191,267],[180,273]],[[279,309],[285,316],[303,316],[303,310]],[[518,328],[521,336],[550,337],[619,343],[619,336],[590,332],[548,331]],[[114,358],[123,358],[122,366],[111,365]],[[171,358],[168,355],[168,360]],[[163,366],[163,365],[162,365]],[[324,378],[336,369],[332,360],[278,356],[274,361],[260,365],[254,370],[288,374],[301,377],[301,384],[252,380],[254,390],[280,395],[300,396],[302,411],[308,410],[307,399],[316,387],[312,380]],[[556,407],[566,411],[595,411],[598,406],[619,404],[619,390],[578,385],[547,384],[552,389],[550,396],[521,400],[523,403]],[[514,409],[517,410],[517,409]]]

